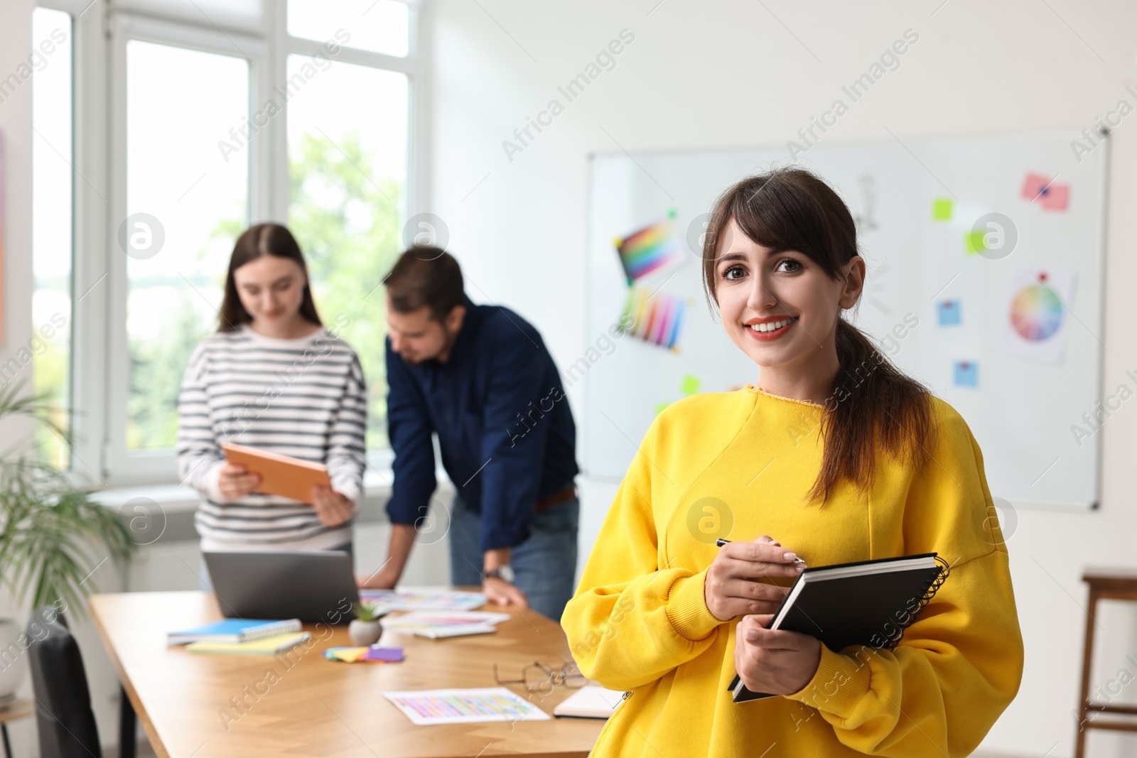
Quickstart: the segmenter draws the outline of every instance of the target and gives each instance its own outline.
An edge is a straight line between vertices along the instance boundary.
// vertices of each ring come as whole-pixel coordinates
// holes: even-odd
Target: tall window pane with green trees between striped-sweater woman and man
[[[290,56],[289,81],[310,65]],[[379,285],[401,245],[406,75],[331,64],[289,100],[288,143],[289,226],[308,257],[321,318],[359,353],[368,383],[367,447],[385,447],[387,322]]]

